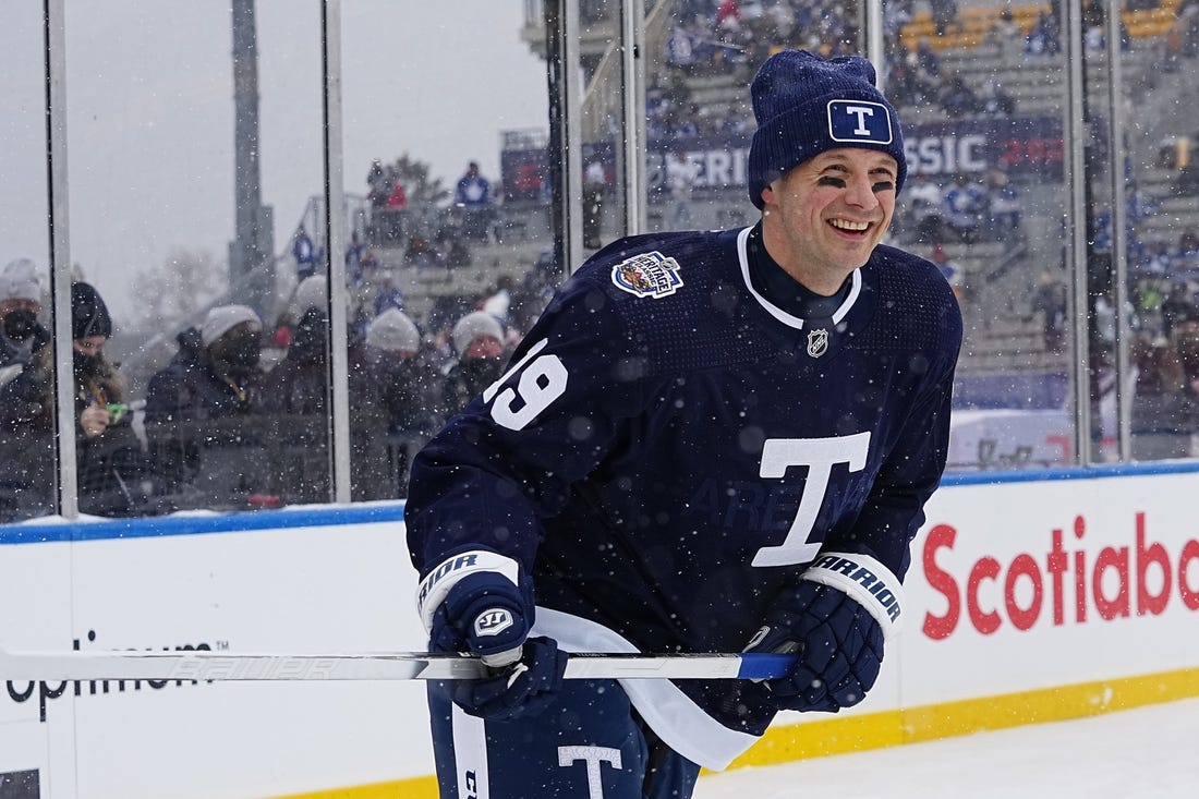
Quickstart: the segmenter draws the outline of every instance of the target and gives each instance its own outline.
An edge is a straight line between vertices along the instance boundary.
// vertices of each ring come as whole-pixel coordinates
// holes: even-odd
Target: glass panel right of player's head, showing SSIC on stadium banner
[[[963,308],[951,470],[1072,462],[1062,119],[1049,6],[885,2],[909,178],[892,240]]]

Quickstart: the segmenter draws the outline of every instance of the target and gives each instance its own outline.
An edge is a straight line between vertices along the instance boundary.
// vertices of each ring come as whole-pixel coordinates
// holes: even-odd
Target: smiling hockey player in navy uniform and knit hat
[[[746,229],[613,242],[417,456],[442,797],[691,797],[779,710],[874,684],[945,464],[962,318],[881,245],[906,167],[860,58],[770,58]],[[564,651],[794,651],[785,677],[564,680]]]

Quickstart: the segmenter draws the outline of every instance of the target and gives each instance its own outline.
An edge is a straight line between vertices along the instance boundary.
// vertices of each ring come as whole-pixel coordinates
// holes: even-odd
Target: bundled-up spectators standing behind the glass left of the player
[[[501,275],[423,324],[379,281],[349,308],[351,494],[406,492],[408,464],[494,382],[548,298],[553,275]],[[89,283],[71,287],[79,510],[110,517],[329,501],[329,292],[300,281],[276,324],[236,301],[180,330],[169,364],[129,396],[107,358],[114,320]],[[0,270],[0,523],[49,513],[55,485],[55,348],[32,262]],[[59,348],[61,350],[61,348]],[[61,353],[59,354],[61,358]]]

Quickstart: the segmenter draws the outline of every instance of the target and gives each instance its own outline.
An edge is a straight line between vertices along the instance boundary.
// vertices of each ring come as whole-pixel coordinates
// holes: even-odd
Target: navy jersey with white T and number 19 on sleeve
[[[560,288],[415,459],[422,575],[493,549],[532,575],[535,632],[658,653],[740,650],[821,548],[903,577],[945,465],[957,302],[933,264],[879,246],[831,317],[799,319],[753,289],[747,234],[625,239]],[[709,767],[773,715],[752,683],[632,683]]]

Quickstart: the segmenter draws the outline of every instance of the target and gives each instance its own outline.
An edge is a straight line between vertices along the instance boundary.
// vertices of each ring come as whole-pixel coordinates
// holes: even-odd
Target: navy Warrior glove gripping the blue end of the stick
[[[899,579],[886,566],[824,553],[782,591],[746,651],[796,653],[787,677],[766,681],[781,710],[837,713],[874,685],[899,613]]]

